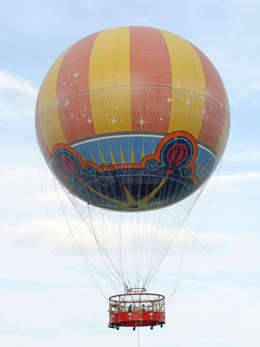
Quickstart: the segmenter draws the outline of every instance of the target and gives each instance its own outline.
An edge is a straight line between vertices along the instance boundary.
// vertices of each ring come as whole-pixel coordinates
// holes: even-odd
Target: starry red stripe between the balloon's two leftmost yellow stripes
[[[57,78],[59,117],[67,142],[95,135],[89,101],[89,60],[99,32],[75,43],[64,56]]]

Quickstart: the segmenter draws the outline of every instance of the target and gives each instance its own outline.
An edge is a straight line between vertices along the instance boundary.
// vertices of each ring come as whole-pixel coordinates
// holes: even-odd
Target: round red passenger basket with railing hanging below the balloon
[[[130,293],[109,298],[109,328],[153,327],[165,324],[164,296]]]

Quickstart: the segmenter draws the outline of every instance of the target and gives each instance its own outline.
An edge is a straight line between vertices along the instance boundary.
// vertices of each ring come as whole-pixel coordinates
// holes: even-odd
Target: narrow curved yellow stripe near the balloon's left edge
[[[68,48],[69,49],[69,48]],[[50,153],[57,143],[67,143],[58,114],[56,85],[59,68],[68,49],[54,62],[45,76],[39,92],[38,115],[42,135]]]

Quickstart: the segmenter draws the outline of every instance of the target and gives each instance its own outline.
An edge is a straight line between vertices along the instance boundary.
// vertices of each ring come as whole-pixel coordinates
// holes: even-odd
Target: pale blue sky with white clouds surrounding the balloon
[[[59,247],[49,254],[66,231],[49,174],[42,164],[39,169],[34,128],[38,90],[58,56],[89,34],[128,25],[161,28],[196,45],[222,77],[231,113],[222,168],[201,229],[204,248],[197,247],[177,286],[165,326],[140,328],[139,346],[259,346],[259,13],[258,0],[2,4],[1,346],[138,346],[137,330],[107,328],[107,301],[73,268],[69,245],[64,243],[65,255]],[[68,215],[73,225],[72,210]],[[157,273],[154,289],[160,294],[175,286],[173,251],[174,246]],[[99,284],[107,296],[117,294]]]

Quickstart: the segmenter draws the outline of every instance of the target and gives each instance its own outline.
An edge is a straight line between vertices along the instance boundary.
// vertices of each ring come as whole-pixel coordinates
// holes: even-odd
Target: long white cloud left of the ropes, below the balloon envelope
[[[95,272],[102,273],[107,278],[113,273],[113,270],[111,272],[107,269],[95,238],[86,227],[82,228],[80,220],[7,220],[0,222],[0,240],[0,245],[6,245],[5,248],[11,245],[19,250],[34,249],[41,251],[44,257],[49,255],[64,261],[66,257],[74,271],[87,281],[94,281]]]

